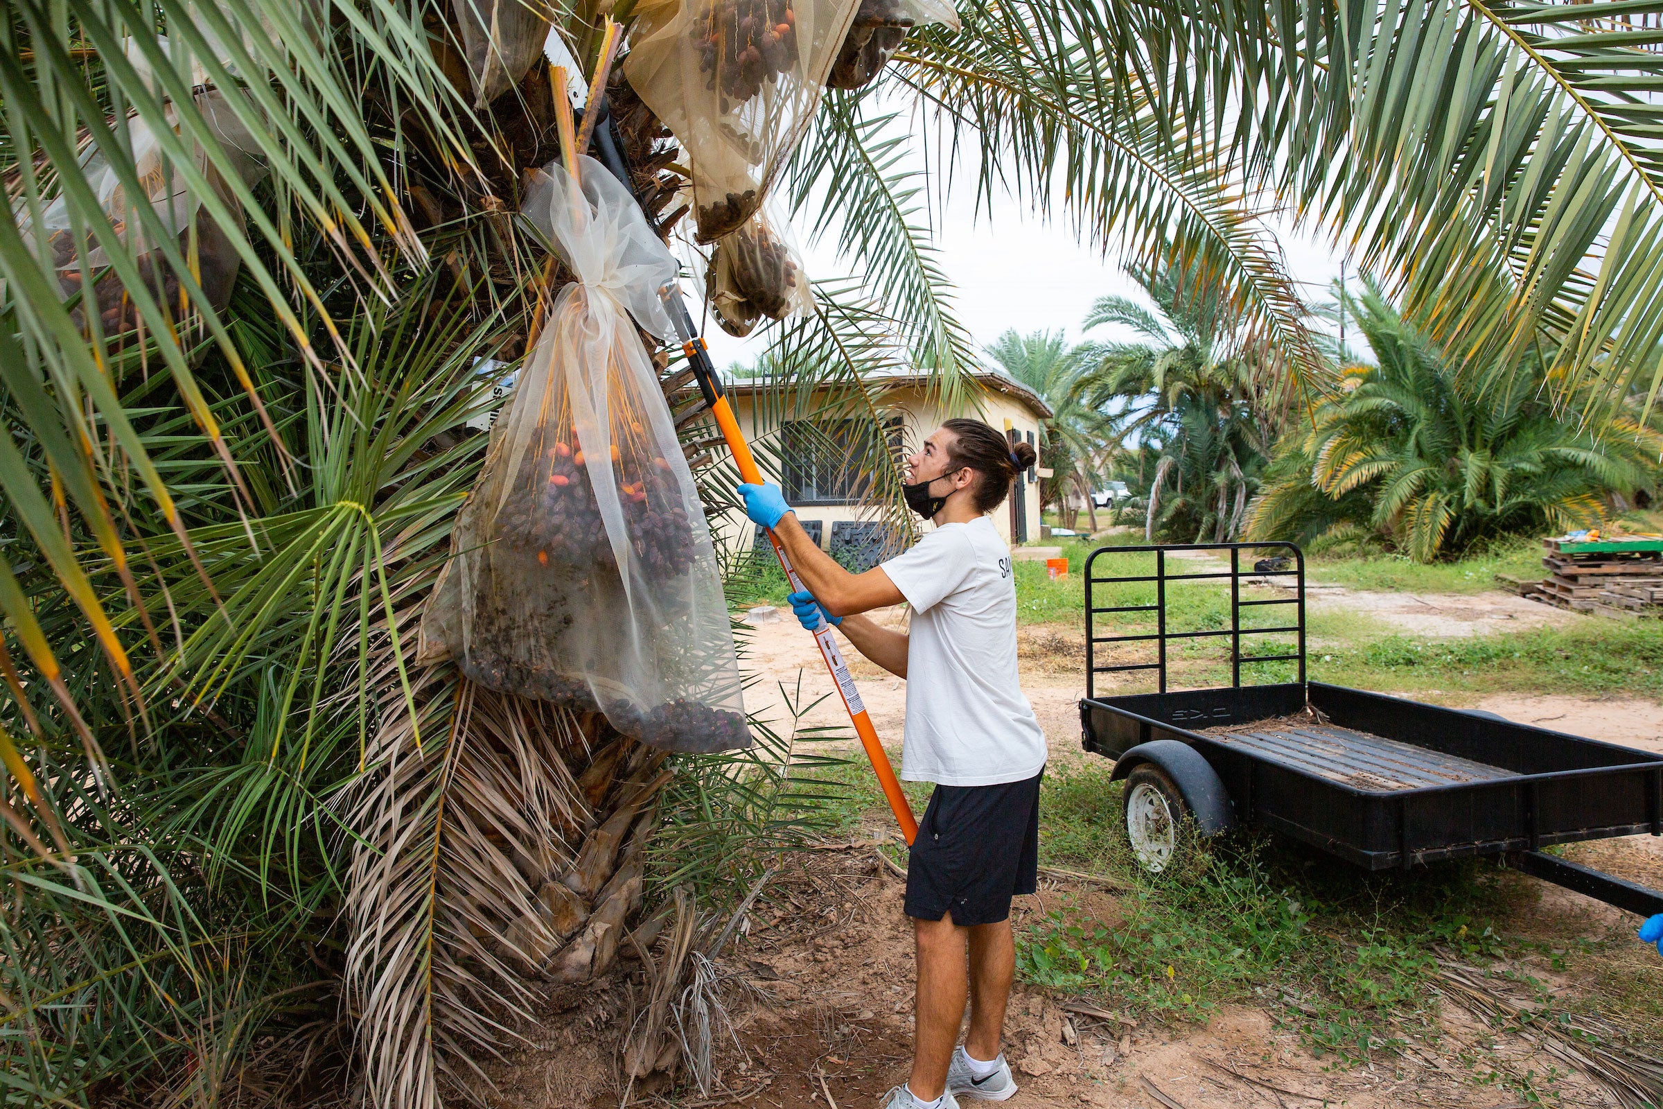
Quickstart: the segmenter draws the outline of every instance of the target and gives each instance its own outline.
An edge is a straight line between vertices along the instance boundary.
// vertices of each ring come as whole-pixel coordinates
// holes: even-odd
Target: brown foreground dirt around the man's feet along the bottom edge
[[[717,998],[727,1024],[715,1021],[713,1086],[703,1096],[683,1089],[679,1101],[669,1101],[649,1084],[632,1089],[629,1104],[868,1109],[906,1079],[913,951],[901,913],[905,881],[876,855],[876,838],[886,830],[875,823],[870,833],[873,840],[856,836],[795,856],[718,961]],[[1064,896],[1098,918],[1116,916],[1111,891],[1044,876],[1036,895],[1018,898],[1013,924],[1021,928]],[[1543,898],[1537,913],[1568,914],[1588,931],[1605,924],[1567,898]],[[1545,964],[1517,969],[1555,978]],[[1558,981],[1575,986],[1563,976]],[[624,1084],[609,1052],[615,1057],[644,991],[639,964],[624,963],[605,988],[557,1003],[560,1011],[550,1013],[532,1044],[492,1069],[497,1096],[491,1104],[622,1106]],[[1344,1067],[1300,1042],[1282,1019],[1287,1009],[1226,1006],[1206,1026],[1152,1026],[1018,986],[1006,1019],[1006,1057],[1021,1089],[1008,1104],[1523,1109],[1507,1079],[1545,1074],[1557,1076],[1558,1104],[1620,1104],[1605,1086],[1568,1067],[1545,1038],[1497,1033],[1460,998],[1457,989],[1445,993],[1437,1042],[1410,1039],[1400,1056]]]

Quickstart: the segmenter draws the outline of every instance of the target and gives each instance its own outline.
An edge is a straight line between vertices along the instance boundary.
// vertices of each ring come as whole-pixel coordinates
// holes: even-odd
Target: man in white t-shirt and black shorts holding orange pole
[[[778,485],[740,485],[752,520],[773,529],[820,614],[875,663],[906,678],[901,776],[936,790],[906,870],[918,958],[913,1072],[885,1109],[956,1109],[958,1097],[1016,1092],[999,1051],[1016,973],[1011,896],[1033,893],[1046,745],[1016,673],[1011,552],[988,519],[1034,462],[1028,444],[951,419],[908,459],[906,502],[936,527],[911,550],[850,574],[808,539]],[[906,632],[860,615],[908,604]],[[966,973],[968,953],[968,973]],[[965,999],[970,1033],[956,1047]]]

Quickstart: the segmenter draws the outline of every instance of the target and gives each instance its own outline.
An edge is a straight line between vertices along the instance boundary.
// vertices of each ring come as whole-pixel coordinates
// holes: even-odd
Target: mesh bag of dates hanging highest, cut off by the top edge
[[[740,229],[813,120],[858,0],[683,0],[640,18],[624,75],[687,150],[698,241]]]

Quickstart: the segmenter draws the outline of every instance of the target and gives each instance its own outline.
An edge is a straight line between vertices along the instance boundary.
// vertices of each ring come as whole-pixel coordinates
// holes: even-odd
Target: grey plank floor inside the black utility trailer
[[[1518,776],[1518,771],[1505,766],[1492,766],[1448,752],[1297,718],[1266,720],[1251,728],[1207,728],[1202,735],[1289,770],[1339,781],[1365,793]]]

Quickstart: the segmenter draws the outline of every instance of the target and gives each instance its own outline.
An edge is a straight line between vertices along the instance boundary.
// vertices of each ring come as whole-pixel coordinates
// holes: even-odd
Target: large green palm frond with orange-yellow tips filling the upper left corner
[[[128,645],[67,549],[23,452],[47,454],[60,494],[96,537],[160,653],[153,609],[131,572],[135,557],[143,560],[131,514],[156,512],[203,589],[216,590],[196,562],[178,489],[123,402],[123,382],[165,372],[234,495],[251,495],[221,406],[196,372],[211,351],[264,434],[281,442],[254,386],[259,371],[226,328],[231,274],[259,289],[296,349],[328,372],[313,338],[339,343],[326,304],[336,293],[316,284],[314,266],[296,251],[294,218],[318,231],[358,296],[394,296],[384,248],[416,264],[426,256],[384,161],[387,136],[366,123],[366,96],[424,111],[461,163],[471,160],[446,125],[451,86],[407,18],[384,0],[351,8],[166,0],[143,10],[25,2],[7,10],[0,171],[13,219],[0,221],[0,364],[27,434],[20,441],[13,429],[0,441],[0,481],[15,522],[93,628],[145,728]],[[281,447],[278,462],[293,481]],[[150,499],[143,509],[125,499],[135,482]],[[0,609],[20,627],[32,622],[10,589],[0,589]],[[25,643],[55,683],[52,648],[35,637]]]

